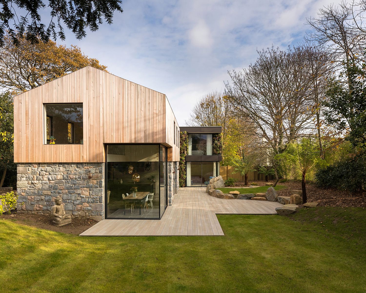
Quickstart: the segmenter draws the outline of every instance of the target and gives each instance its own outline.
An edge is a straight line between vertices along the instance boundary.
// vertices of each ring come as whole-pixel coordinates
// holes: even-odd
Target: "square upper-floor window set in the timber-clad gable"
[[[45,142],[83,143],[83,104],[44,104]]]

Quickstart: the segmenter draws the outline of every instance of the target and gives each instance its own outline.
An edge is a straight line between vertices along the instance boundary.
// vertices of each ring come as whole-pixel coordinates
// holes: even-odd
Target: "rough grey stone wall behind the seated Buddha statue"
[[[49,215],[55,197],[62,197],[66,214],[104,218],[104,164],[17,164],[19,213]]]

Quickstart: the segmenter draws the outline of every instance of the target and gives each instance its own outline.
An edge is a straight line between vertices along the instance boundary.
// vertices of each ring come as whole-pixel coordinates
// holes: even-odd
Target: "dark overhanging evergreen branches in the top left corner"
[[[123,12],[121,3],[121,0],[3,0],[0,12],[0,46],[5,44],[3,37],[6,30],[14,44],[18,44],[19,39],[23,38],[23,34],[31,44],[36,44],[39,41],[46,43],[50,39],[56,41],[57,37],[65,40],[63,24],[80,40],[86,36],[85,30],[87,28],[91,31],[98,30],[103,19],[111,24],[113,12]],[[48,24],[41,17],[41,11],[45,10],[46,7],[51,10],[51,19],[49,19]]]

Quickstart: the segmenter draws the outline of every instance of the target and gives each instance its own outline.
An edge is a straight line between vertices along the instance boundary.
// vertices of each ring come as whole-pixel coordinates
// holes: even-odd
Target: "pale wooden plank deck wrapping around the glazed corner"
[[[277,202],[225,200],[209,196],[206,188],[180,188],[174,204],[161,220],[102,220],[80,236],[177,236],[224,235],[216,214],[277,214]]]

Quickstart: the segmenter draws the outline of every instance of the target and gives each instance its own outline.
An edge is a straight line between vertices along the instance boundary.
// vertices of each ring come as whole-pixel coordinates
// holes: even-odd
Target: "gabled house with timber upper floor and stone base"
[[[87,66],[14,98],[18,212],[160,219],[178,192],[165,94]],[[136,193],[135,193],[136,192]]]

